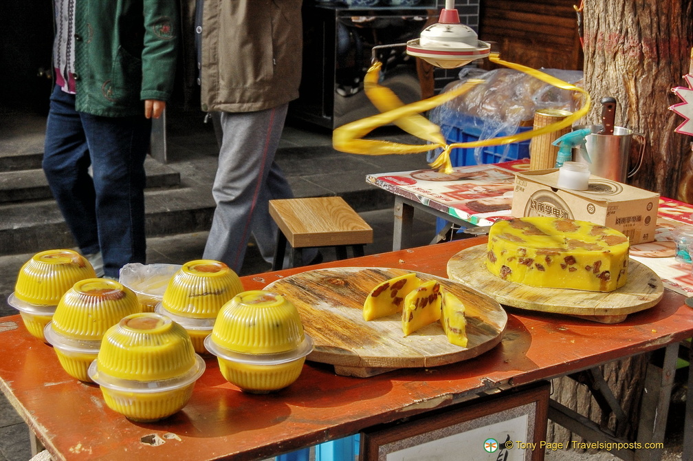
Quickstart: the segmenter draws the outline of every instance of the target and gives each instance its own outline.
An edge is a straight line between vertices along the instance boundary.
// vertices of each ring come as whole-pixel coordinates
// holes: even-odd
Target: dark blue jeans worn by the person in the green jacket
[[[80,252],[100,251],[107,277],[117,279],[127,263],[146,262],[144,159],[150,132],[144,115],[77,112],[73,94],[53,90],[44,173]]]

